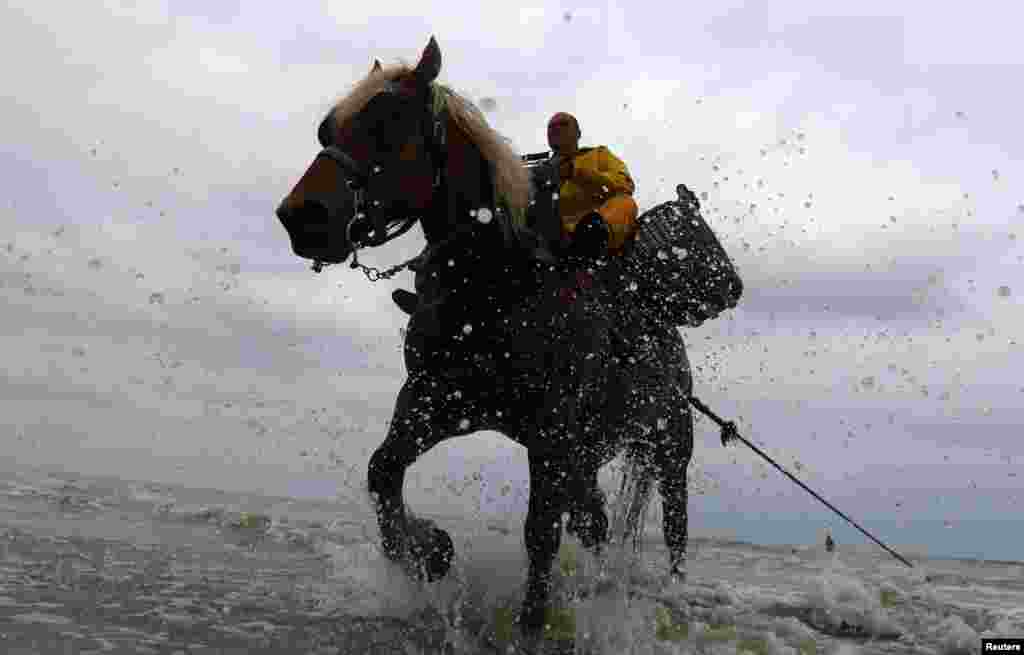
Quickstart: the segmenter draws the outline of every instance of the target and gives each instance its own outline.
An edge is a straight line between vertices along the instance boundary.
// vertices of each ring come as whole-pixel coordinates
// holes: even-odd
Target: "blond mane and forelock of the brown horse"
[[[407,63],[383,67],[371,71],[359,80],[346,96],[334,105],[336,125],[343,125],[370,102],[371,98],[384,90],[391,82],[413,72]],[[529,172],[522,165],[522,159],[512,147],[509,139],[499,134],[483,114],[468,98],[442,84],[432,84],[434,110],[446,107],[455,124],[480,148],[480,155],[490,164],[498,199],[504,199],[512,222],[517,227],[525,223],[526,208],[529,205]]]

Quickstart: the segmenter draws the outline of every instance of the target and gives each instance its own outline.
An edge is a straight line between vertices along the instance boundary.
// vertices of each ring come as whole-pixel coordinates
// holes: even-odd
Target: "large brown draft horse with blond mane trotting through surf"
[[[415,66],[375,60],[321,123],[323,149],[276,215],[317,266],[354,267],[358,249],[422,226],[407,378],[368,469],[381,549],[410,575],[443,577],[452,539],[407,508],[406,471],[445,439],[502,433],[527,451],[516,621],[536,636],[563,528],[585,548],[609,541],[597,473],[623,452],[656,480],[670,571],[685,574],[692,378],[679,331],[631,310],[613,258],[581,267],[543,248],[528,171],[440,69],[433,37]]]

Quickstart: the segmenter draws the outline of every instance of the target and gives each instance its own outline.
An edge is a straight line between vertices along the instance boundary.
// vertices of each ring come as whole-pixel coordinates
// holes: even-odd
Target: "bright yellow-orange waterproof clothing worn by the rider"
[[[635,189],[626,164],[607,147],[581,148],[572,159],[572,176],[562,179],[558,189],[563,238],[581,218],[596,211],[608,224],[608,251],[620,252],[637,231]]]

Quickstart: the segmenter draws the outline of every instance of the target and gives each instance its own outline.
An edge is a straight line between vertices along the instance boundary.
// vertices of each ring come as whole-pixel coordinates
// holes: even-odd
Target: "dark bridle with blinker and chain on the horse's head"
[[[387,84],[383,93],[399,93],[399,89],[400,83],[392,81]],[[423,113],[422,126],[422,134],[424,135],[427,156],[430,158],[434,167],[434,179],[431,188],[432,196],[436,196],[437,192],[441,189],[441,187],[445,186],[447,182],[444,174],[447,160],[447,112],[443,108],[438,112],[434,112],[432,106],[433,94],[438,92],[439,91],[436,87],[433,85],[430,86],[430,92],[427,94],[426,99],[427,106],[424,107],[425,111]],[[385,167],[394,165],[397,162],[398,156],[394,155],[393,158],[388,158],[390,161],[380,159],[372,161],[369,164],[361,164],[334,143],[334,134],[337,133],[335,127],[334,115],[328,114],[327,118],[325,118],[323,123],[321,123],[319,130],[317,131],[317,137],[323,149],[316,157],[317,159],[322,157],[327,158],[341,168],[345,184],[353,194],[354,216],[352,220],[348,222],[345,234],[346,239],[352,247],[352,262],[349,266],[351,268],[362,269],[364,274],[366,274],[371,281],[387,279],[388,277],[392,277],[398,273],[400,270],[407,268],[410,264],[416,261],[417,257],[414,257],[407,262],[402,262],[397,266],[381,271],[372,266],[360,264],[358,261],[358,250],[360,248],[376,248],[378,246],[383,246],[384,244],[401,236],[416,224],[416,221],[418,221],[420,217],[403,216],[395,219],[393,216],[388,216],[384,211],[379,209],[384,205],[384,203],[381,202],[381,199],[370,193],[370,189],[379,186],[373,183],[374,176],[380,175],[385,170]],[[355,228],[362,231],[366,222],[370,223],[372,229],[367,232],[366,238],[356,238]],[[319,260],[314,260],[312,270],[318,273],[326,265],[330,264],[326,264]]]

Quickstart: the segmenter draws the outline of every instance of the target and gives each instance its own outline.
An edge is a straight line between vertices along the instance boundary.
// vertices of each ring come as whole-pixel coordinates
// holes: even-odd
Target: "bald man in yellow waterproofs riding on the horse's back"
[[[548,121],[548,144],[558,167],[561,250],[570,256],[621,254],[636,233],[636,185],[626,164],[604,145],[580,147],[583,132],[571,114]]]

